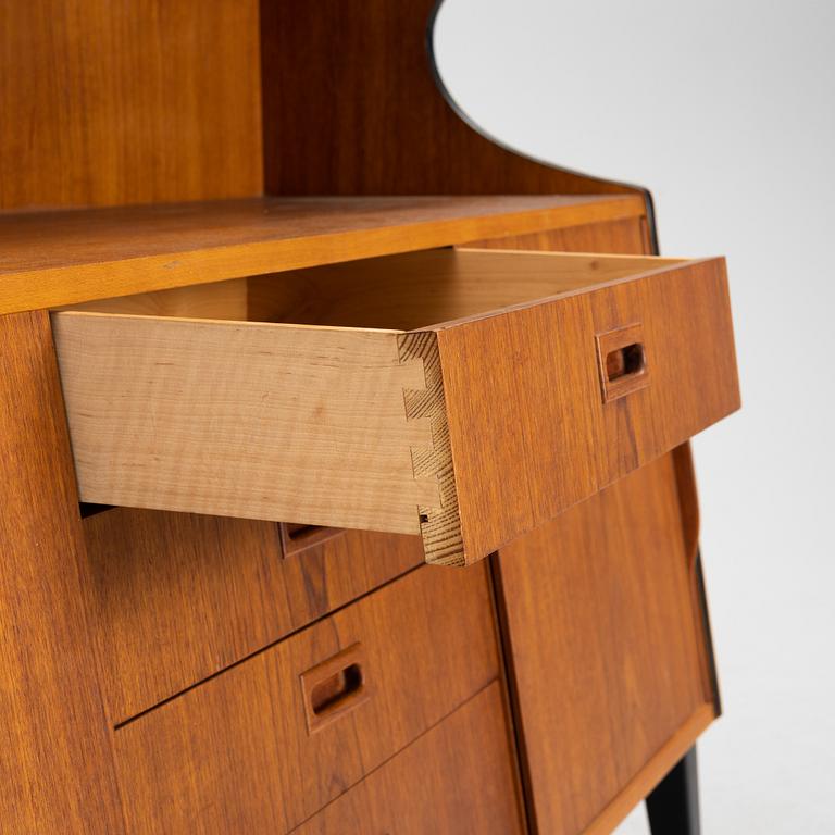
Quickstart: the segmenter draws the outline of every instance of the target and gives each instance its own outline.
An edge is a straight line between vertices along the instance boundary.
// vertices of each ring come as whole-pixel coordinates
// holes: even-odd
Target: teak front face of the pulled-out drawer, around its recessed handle
[[[635,322],[644,326],[652,383],[603,404],[595,335]],[[464,551],[472,558],[739,406],[721,260],[441,326],[437,335]]]

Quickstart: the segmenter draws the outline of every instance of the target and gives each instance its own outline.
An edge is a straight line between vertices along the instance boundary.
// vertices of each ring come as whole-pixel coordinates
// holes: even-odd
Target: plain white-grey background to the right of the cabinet
[[[744,410],[694,443],[703,833],[835,833],[835,2],[447,0],[435,43],[484,129],[649,187],[663,253],[727,256]]]

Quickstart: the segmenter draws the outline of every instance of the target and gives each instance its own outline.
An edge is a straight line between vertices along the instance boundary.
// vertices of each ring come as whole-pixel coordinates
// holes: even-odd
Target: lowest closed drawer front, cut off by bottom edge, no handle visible
[[[294,835],[521,835],[511,761],[494,683]]]

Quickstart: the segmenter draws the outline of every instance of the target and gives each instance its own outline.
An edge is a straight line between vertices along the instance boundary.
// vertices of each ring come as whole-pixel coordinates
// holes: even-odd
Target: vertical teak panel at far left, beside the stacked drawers
[[[2,830],[121,833],[48,316],[0,317],[0,342]]]

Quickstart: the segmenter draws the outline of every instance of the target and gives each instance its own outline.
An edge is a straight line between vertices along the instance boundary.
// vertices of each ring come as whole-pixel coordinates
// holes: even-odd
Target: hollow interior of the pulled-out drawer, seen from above
[[[86,302],[67,310],[418,331],[682,259],[443,248]]]

